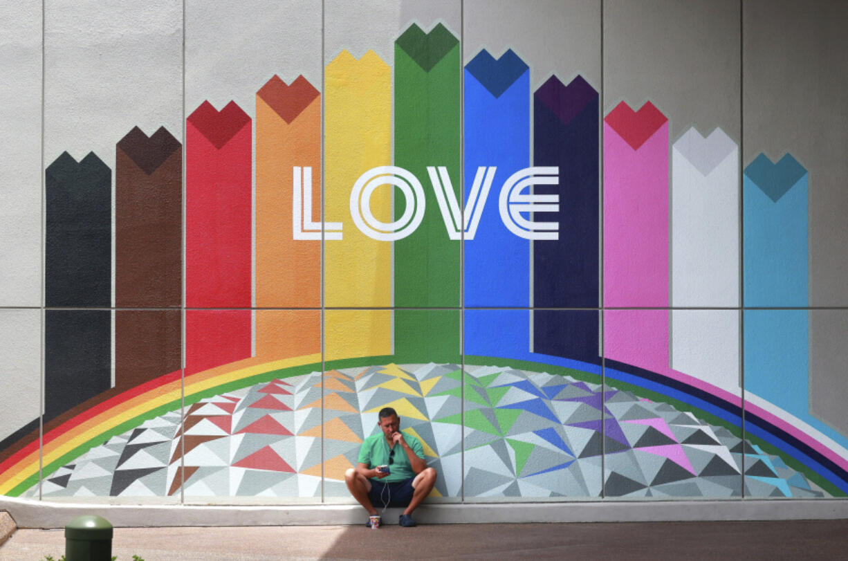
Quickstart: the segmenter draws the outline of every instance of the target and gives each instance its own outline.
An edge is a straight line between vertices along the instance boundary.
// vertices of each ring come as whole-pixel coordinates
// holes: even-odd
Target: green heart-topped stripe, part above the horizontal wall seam
[[[425,35],[413,24],[394,45],[394,164],[424,186],[427,213],[416,231],[394,242],[394,304],[459,306],[460,244],[449,239],[427,166],[448,169],[460,200],[460,42],[444,25]],[[399,202],[400,199],[400,202]],[[404,213],[395,198],[394,218]],[[398,334],[414,337],[415,334]]]

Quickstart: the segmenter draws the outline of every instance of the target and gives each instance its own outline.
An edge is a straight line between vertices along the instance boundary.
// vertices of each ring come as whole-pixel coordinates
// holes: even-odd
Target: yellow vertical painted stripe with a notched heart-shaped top
[[[325,305],[392,305],[392,244],[365,236],[350,216],[350,193],[365,171],[392,161],[392,73],[368,51],[356,60],[342,51],[326,66],[324,129],[325,219],[343,223],[342,240],[326,240]],[[392,221],[392,187],[371,197],[371,214]],[[326,358],[389,353],[392,314],[326,314]]]

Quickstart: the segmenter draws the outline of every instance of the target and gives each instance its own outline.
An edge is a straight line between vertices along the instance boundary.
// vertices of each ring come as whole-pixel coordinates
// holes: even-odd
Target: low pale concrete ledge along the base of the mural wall
[[[131,505],[46,503],[0,497],[19,528],[64,528],[81,514],[98,514],[115,527],[360,525],[365,511],[352,504],[292,506]],[[389,508],[384,524],[397,524]],[[669,522],[687,520],[848,519],[848,500],[598,501],[581,503],[465,503],[425,505],[424,524],[527,522]]]

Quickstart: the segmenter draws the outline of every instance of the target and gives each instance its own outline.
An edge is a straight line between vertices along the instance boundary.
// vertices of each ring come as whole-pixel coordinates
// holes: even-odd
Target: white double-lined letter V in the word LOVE
[[[477,225],[480,224],[480,217],[483,215],[483,207],[486,206],[488,192],[492,188],[494,181],[495,166],[477,168],[477,175],[474,175],[474,183],[471,185],[471,194],[468,197],[465,208],[464,224],[462,230],[465,232],[466,240],[473,240],[477,234]],[[437,171],[438,170],[438,171]],[[432,189],[436,192],[436,200],[438,201],[438,209],[442,211],[442,219],[444,219],[444,227],[448,231],[448,236],[451,240],[460,239],[460,203],[456,200],[454,187],[450,183],[448,169],[444,165],[427,166],[427,174],[430,175]]]

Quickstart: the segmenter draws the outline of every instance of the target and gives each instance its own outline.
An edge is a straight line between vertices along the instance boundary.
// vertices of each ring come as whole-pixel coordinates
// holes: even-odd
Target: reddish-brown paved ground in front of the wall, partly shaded
[[[17,530],[0,559],[64,553],[64,530]],[[844,559],[848,520],[118,528],[118,561],[280,558]]]

